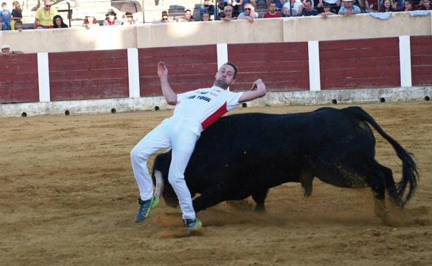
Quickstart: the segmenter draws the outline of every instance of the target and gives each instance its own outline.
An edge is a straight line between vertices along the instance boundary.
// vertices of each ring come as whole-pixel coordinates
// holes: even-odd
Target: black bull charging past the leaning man
[[[391,169],[375,160],[375,137],[368,124],[402,160],[399,182]],[[168,182],[170,160],[170,151],[159,154],[152,175],[156,194],[162,193],[167,205],[175,207],[177,196]],[[418,173],[411,153],[359,107],[222,117],[201,134],[185,173],[191,195],[201,194],[193,200],[197,212],[249,196],[256,209],[263,210],[271,187],[300,182],[310,196],[315,177],[337,187],[370,187],[377,215],[386,220],[391,218],[384,204],[386,191],[395,205],[404,207],[417,187]]]

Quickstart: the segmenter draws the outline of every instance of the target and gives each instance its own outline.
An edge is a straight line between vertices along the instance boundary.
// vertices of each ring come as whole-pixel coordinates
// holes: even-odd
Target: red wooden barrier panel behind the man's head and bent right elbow
[[[239,68],[233,91],[246,91],[261,78],[268,91],[309,90],[307,42],[228,44],[228,59]]]

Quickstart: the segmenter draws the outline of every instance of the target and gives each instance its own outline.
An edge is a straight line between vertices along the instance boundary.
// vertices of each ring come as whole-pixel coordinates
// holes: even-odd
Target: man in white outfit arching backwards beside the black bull
[[[266,94],[266,87],[261,79],[255,80],[251,91],[233,93],[228,87],[237,75],[237,66],[231,62],[224,64],[215,75],[211,88],[201,88],[177,95],[168,82],[168,69],[164,62],[158,64],[163,97],[168,104],[177,105],[172,117],[163,120],[159,126],[148,133],[131,151],[132,168],[141,197],[136,214],[136,222],[143,222],[159,202],[153,195],[153,182],[147,168],[147,160],[159,149],[171,148],[172,161],[168,181],[172,185],[183,213],[183,222],[188,230],[201,227],[202,223],[195,215],[190,191],[184,180],[184,171],[190,155],[195,149],[201,131],[217,121],[227,111]],[[209,151],[210,152],[210,151]]]

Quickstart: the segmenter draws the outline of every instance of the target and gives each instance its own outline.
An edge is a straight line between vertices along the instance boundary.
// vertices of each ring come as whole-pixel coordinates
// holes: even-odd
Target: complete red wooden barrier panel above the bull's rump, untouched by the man
[[[400,86],[399,38],[320,41],[321,90]]]

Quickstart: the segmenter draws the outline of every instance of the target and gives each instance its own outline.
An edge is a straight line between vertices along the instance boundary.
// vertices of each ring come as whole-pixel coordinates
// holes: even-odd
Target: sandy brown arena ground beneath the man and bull
[[[375,216],[370,190],[315,180],[307,199],[297,183],[271,189],[264,214],[223,202],[199,213],[199,234],[182,237],[179,209],[163,202],[134,222],[129,151],[171,111],[2,118],[0,265],[432,265],[431,102],[362,107],[414,153],[420,170],[396,227]],[[375,136],[377,159],[399,180],[401,161]]]

